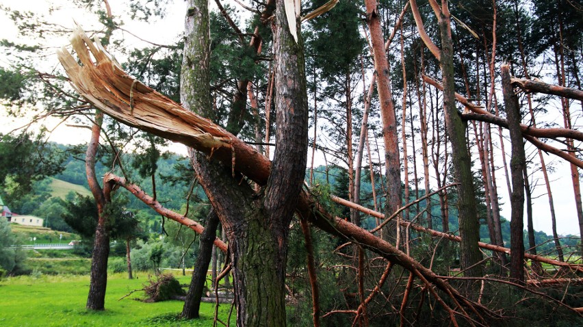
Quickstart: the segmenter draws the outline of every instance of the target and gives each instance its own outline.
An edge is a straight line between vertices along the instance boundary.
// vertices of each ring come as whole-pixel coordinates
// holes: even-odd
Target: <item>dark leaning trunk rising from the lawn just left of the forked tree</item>
[[[218,216],[214,211],[211,211],[207,216],[205,231],[200,235],[198,257],[196,257],[196,263],[194,263],[190,287],[188,287],[181,313],[181,317],[185,319],[198,318],[199,316],[200,298],[203,296],[205,284],[207,283],[207,272],[209,270],[209,263],[211,262],[214,248],[213,241],[216,238],[218,223]]]

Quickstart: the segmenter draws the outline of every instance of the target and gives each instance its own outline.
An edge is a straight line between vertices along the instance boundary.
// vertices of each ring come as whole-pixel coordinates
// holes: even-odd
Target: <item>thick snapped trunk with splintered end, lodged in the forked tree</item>
[[[259,185],[265,185],[271,163],[255,148],[127,75],[101,47],[99,40],[94,44],[80,27],[73,34],[71,44],[82,66],[66,49],[58,51],[57,55],[75,90],[95,107],[127,125],[191,146],[231,165],[233,170]],[[296,212],[323,231],[355,241],[409,270],[423,283],[435,285],[450,295],[456,304],[469,308],[480,319],[482,314],[500,317],[482,304],[467,300],[444,279],[389,242],[350,222],[333,217],[305,191],[300,194]],[[432,287],[428,289],[434,291]],[[437,293],[434,296],[437,297]]]

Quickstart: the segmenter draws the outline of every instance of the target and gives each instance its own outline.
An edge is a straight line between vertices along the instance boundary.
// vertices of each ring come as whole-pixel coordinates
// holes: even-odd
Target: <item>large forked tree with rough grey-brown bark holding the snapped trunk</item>
[[[207,1],[191,1],[188,12],[192,15],[186,23],[183,71],[188,75],[182,79],[181,98],[195,111],[210,107],[207,10]],[[289,31],[283,0],[276,3],[274,39],[278,129],[267,185],[256,193],[235,170],[191,151],[200,185],[231,240],[238,326],[285,326],[287,234],[307,163],[302,41],[296,42]]]

